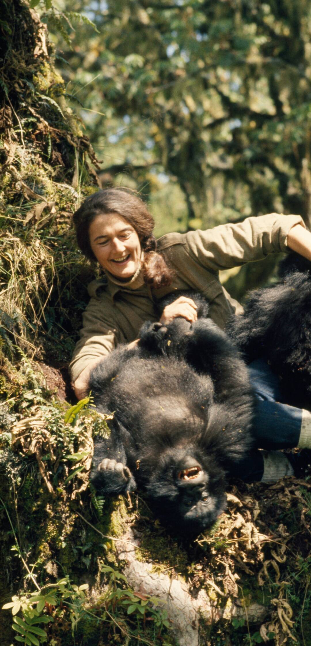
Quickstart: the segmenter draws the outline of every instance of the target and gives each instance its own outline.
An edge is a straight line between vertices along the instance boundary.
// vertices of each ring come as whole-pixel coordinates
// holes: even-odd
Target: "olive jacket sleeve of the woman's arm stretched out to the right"
[[[299,215],[271,213],[247,218],[239,224],[221,224],[207,231],[185,234],[188,253],[212,271],[230,269],[262,260],[270,253],[288,251],[287,236],[296,224],[305,227]]]

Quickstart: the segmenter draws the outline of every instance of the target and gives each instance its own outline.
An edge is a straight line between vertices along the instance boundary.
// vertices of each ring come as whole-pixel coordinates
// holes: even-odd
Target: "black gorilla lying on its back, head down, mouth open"
[[[198,534],[223,510],[226,473],[250,448],[253,395],[239,351],[206,318],[205,300],[187,295],[197,322],[148,322],[139,346],[92,371],[95,405],[115,412],[108,444],[95,439],[92,483],[103,494],[143,486],[167,525]]]

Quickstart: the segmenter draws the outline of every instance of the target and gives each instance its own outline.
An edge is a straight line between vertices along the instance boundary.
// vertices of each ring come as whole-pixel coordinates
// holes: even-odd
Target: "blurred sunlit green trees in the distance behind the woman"
[[[310,3],[293,6],[65,2],[99,30],[70,32],[63,73],[103,180],[150,196],[164,172],[189,226],[282,210],[308,221]]]

